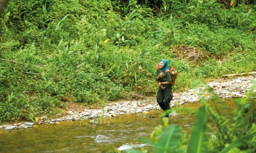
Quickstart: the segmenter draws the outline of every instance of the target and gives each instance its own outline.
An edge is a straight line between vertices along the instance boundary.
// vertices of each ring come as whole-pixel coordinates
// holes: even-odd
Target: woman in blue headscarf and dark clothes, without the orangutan
[[[156,80],[158,81],[158,105],[164,111],[170,109],[170,101],[173,98],[172,94],[172,78],[168,69],[168,62],[166,59],[161,59],[157,65]],[[168,117],[169,115],[165,115]]]

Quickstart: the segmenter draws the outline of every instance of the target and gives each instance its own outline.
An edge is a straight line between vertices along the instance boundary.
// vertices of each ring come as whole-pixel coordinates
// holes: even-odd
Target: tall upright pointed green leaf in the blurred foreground
[[[200,107],[192,129],[187,153],[208,153],[206,137],[206,112],[205,107]]]

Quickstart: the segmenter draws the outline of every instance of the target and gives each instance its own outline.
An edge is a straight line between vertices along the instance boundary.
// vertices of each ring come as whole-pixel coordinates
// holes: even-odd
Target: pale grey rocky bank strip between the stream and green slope
[[[221,98],[232,98],[245,96],[253,85],[252,81],[256,81],[256,75],[251,76],[238,76],[232,79],[223,78],[217,80],[209,80],[208,85],[214,89],[214,92]],[[197,96],[197,90],[189,89],[182,93],[174,93],[174,98],[171,101],[171,107],[183,105],[184,103],[197,102],[199,97]],[[253,89],[256,93],[256,88]],[[99,116],[115,117],[117,115],[143,113],[147,114],[150,110],[160,110],[156,100],[138,100],[138,101],[125,101],[110,103],[102,109],[84,109],[83,111],[69,111],[68,116],[57,119],[45,119],[39,118],[38,124],[49,123],[56,124],[65,120],[81,120],[90,119],[94,122],[95,118]],[[32,128],[34,123],[24,122],[16,123],[14,125],[0,125],[0,130],[11,130],[20,128]]]

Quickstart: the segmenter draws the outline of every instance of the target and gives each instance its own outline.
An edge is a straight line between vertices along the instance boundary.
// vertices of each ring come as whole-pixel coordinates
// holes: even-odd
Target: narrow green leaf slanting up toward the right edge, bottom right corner
[[[225,147],[220,153],[227,153],[230,149],[234,147],[239,147],[242,145],[248,145],[250,141],[256,136],[256,132],[252,134],[246,134],[235,141],[233,141],[231,144],[229,144],[227,147]]]

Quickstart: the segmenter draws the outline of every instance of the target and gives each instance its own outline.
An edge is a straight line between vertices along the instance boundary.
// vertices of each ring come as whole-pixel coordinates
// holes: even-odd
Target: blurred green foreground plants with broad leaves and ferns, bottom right
[[[201,90],[199,96],[203,106],[198,109],[188,141],[180,126],[168,125],[169,119],[163,117],[164,128],[159,125],[149,139],[144,140],[153,147],[153,153],[254,153],[256,93],[253,90],[256,89],[256,82],[246,97],[234,99],[236,108],[231,117],[221,115],[226,106],[206,82],[195,80],[193,83],[195,88]],[[217,132],[211,136],[207,134],[208,119],[212,119],[217,127]],[[147,150],[130,150],[128,153],[147,153]]]

